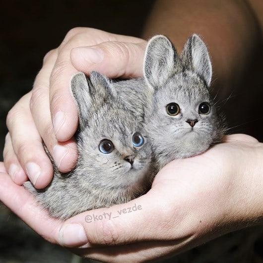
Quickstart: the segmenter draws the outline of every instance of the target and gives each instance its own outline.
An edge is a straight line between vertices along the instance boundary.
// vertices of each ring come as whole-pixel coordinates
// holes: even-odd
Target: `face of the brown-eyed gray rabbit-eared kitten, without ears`
[[[149,134],[161,162],[197,155],[217,139],[218,120],[209,92],[192,72],[177,74],[160,87],[153,107]]]

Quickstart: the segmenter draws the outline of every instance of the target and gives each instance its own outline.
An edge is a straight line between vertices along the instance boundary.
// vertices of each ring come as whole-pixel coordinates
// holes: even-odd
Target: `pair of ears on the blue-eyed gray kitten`
[[[91,72],[90,79],[83,72],[74,74],[70,80],[70,88],[78,108],[79,128],[83,129],[99,107],[111,94],[110,82],[98,72]]]

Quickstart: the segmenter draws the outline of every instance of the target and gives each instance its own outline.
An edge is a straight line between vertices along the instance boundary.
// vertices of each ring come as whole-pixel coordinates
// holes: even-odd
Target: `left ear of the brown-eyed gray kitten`
[[[163,35],[157,35],[148,42],[145,51],[143,73],[150,86],[158,87],[182,69],[179,55],[172,42]]]

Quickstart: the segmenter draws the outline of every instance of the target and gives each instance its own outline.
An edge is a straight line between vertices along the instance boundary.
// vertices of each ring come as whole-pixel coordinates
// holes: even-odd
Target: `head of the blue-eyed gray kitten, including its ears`
[[[113,83],[98,72],[91,72],[89,79],[81,72],[75,74],[71,90],[79,111],[76,171],[82,174],[81,184],[143,188],[151,148],[142,121],[119,99]]]

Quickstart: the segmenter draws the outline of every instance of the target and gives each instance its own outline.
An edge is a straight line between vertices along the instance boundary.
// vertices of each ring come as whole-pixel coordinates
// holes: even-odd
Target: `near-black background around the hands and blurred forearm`
[[[0,152],[7,132],[5,117],[32,88],[45,54],[60,45],[76,26],[140,36],[153,0],[3,1],[0,9]],[[158,32],[162,33],[162,32]],[[263,50],[263,49],[262,49]],[[242,86],[233,87],[222,104],[229,132],[263,141],[263,53],[257,54]],[[230,95],[230,94],[229,94]],[[226,97],[227,98],[227,97]],[[0,160],[2,157],[0,157]],[[11,198],[11,197],[10,197]],[[208,242],[171,262],[261,263],[263,227],[248,228]],[[44,241],[0,203],[0,263],[86,262]]]

